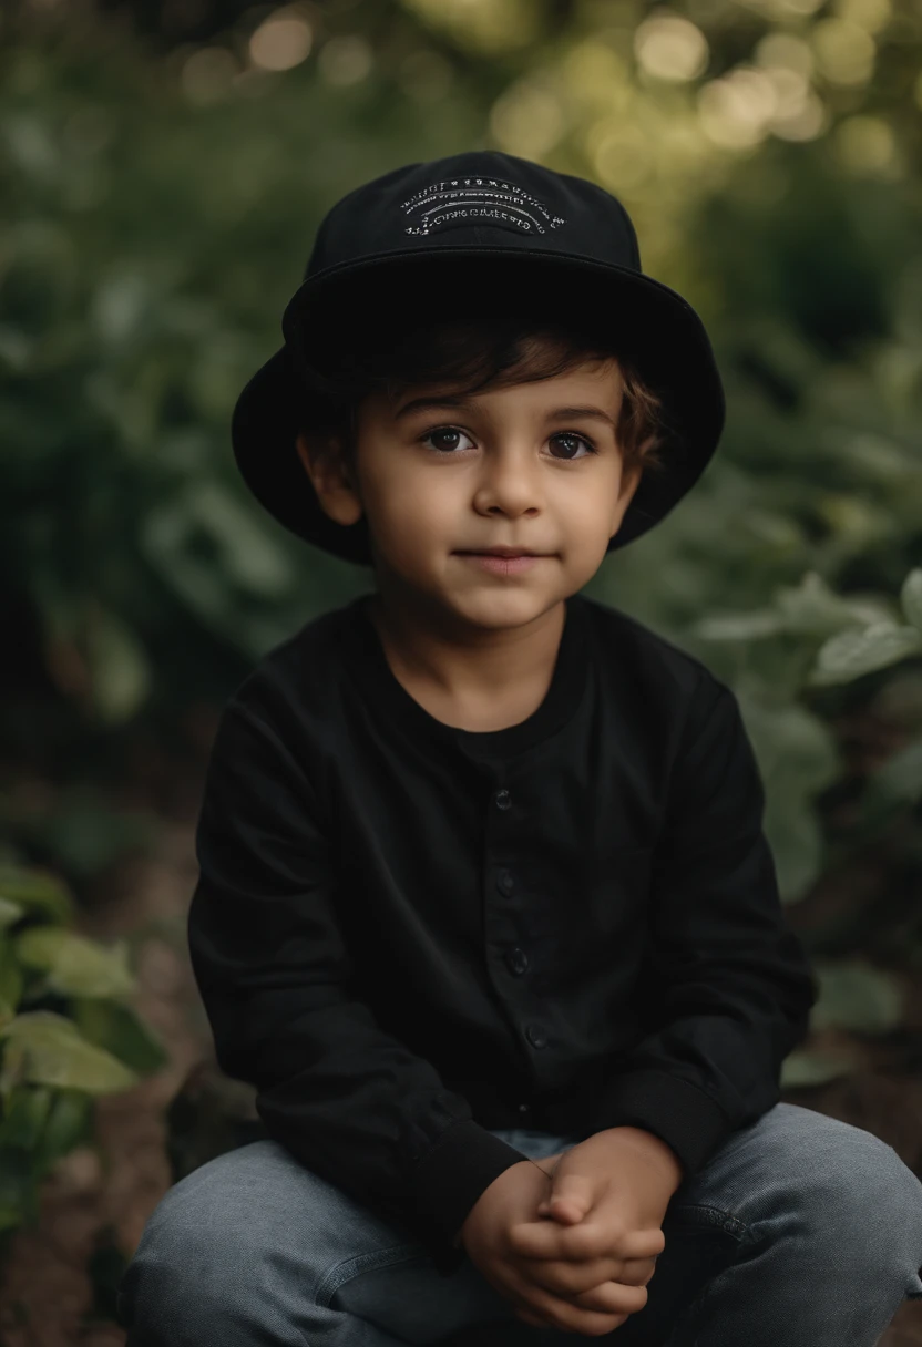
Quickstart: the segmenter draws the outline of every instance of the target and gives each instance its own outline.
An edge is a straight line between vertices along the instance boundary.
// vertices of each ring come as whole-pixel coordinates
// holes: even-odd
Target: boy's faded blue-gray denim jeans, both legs
[[[582,1134],[496,1130],[535,1160]],[[922,1184],[860,1127],[778,1103],[673,1195],[666,1247],[617,1347],[873,1347],[922,1296]],[[275,1141],[163,1196],[119,1292],[127,1347],[403,1347],[493,1324],[503,1343],[585,1344],[515,1317],[465,1259],[426,1250]],[[611,1334],[605,1335],[611,1336]]]

